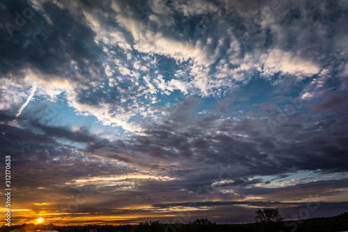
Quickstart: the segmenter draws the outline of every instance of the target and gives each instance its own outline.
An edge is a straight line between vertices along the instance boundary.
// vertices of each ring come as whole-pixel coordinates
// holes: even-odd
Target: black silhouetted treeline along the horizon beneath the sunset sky
[[[196,219],[187,224],[161,224],[155,222],[141,222],[137,225],[86,225],[86,226],[56,226],[56,225],[31,225],[1,226],[0,232],[24,232],[28,230],[56,230],[60,232],[89,232],[89,229],[97,229],[97,232],[307,232],[307,231],[347,231],[348,212],[335,217],[318,217],[314,219],[285,221],[285,222],[258,222],[249,224],[216,224],[208,219]]]

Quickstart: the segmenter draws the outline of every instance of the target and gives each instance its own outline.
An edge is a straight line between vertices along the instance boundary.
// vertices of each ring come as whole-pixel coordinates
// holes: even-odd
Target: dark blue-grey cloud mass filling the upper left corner
[[[2,76],[10,73],[13,78],[19,78],[26,68],[32,68],[65,78],[72,73],[69,71],[72,68],[70,61],[77,62],[79,72],[88,76],[88,66],[93,65],[100,54],[93,31],[68,10],[58,8],[49,1],[43,4],[45,15],[24,1],[5,1],[1,3],[1,15],[4,16],[1,24],[16,25],[15,13],[22,14],[25,9],[31,10],[33,17],[13,31],[13,36],[8,35],[5,26],[1,27]]]

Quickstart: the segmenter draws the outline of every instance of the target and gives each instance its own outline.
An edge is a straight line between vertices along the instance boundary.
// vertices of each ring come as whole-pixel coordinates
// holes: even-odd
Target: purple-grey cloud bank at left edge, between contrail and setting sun
[[[47,126],[45,132],[48,131],[49,133],[40,134],[29,129],[0,124],[0,150],[2,154],[11,155],[13,169],[16,170],[13,175],[14,181],[21,186],[20,188],[47,187],[45,191],[66,192],[64,188],[57,189],[56,186],[63,186],[70,180],[84,178],[86,175],[90,176],[86,173],[87,167],[88,171],[94,173],[93,176],[99,175],[102,170],[114,174],[129,172],[122,167],[113,170],[113,164],[88,160],[82,155],[83,150],[60,144],[54,139],[58,137],[71,139],[70,141],[89,141],[86,139],[86,134],[74,133],[62,127]],[[40,182],[38,177],[41,179]]]

